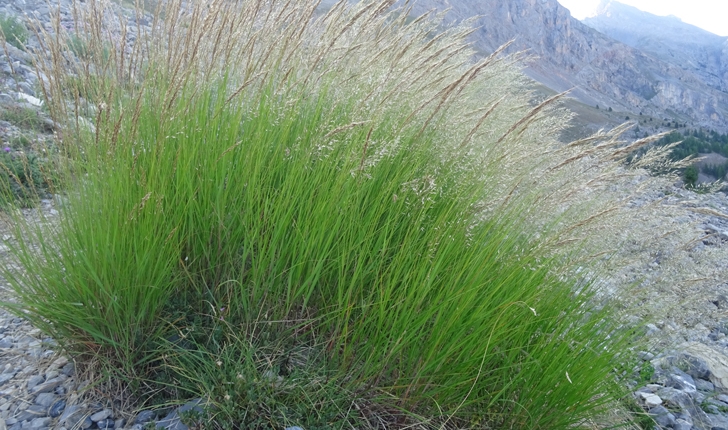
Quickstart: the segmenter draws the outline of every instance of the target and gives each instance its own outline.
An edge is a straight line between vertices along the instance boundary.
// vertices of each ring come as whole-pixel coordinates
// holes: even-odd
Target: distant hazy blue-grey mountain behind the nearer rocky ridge
[[[584,24],[662,61],[700,76],[709,86],[728,91],[728,37],[656,16],[616,1],[603,0]]]

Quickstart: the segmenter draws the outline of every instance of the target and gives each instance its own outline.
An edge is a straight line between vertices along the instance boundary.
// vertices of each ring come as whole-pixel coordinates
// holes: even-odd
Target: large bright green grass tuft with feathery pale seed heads
[[[90,0],[38,29],[73,186],[55,228],[19,224],[9,306],[140,396],[208,399],[211,428],[606,412],[631,337],[594,232],[649,140],[559,143],[518,57],[392,3],[173,0],[129,38]]]

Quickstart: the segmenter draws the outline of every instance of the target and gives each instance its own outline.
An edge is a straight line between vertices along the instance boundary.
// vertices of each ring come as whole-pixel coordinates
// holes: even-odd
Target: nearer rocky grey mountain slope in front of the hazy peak
[[[510,52],[527,51],[536,57],[526,74],[554,91],[572,89],[571,96],[587,107],[609,106],[728,130],[728,93],[719,83],[722,78],[706,78],[722,70],[719,66],[702,70],[700,62],[686,67],[682,61],[665,61],[583,24],[557,0],[419,0],[412,7],[413,15],[449,9],[449,21],[479,16],[472,36],[476,49],[490,53],[515,40]],[[728,58],[728,46],[721,55]]]

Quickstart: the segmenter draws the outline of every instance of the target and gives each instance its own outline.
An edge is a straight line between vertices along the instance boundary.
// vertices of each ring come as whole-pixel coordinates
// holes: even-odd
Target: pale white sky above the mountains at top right
[[[574,18],[589,16],[599,0],[558,0]],[[675,15],[712,33],[728,36],[728,0],[619,0],[655,15]]]

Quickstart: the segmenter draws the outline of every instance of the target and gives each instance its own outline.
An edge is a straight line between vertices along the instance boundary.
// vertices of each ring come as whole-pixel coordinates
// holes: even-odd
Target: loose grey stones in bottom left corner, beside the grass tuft
[[[91,381],[80,380],[75,364],[56,346],[27,321],[0,310],[0,429],[186,430],[181,417],[203,412],[202,399],[136,414],[90,403],[84,388]]]

